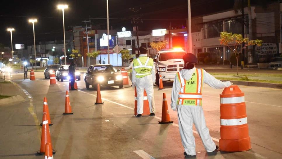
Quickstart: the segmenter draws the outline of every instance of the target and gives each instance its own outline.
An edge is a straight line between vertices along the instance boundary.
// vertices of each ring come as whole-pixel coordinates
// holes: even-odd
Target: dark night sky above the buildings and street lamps
[[[62,11],[57,9],[57,4],[68,4],[65,10],[65,29],[70,26],[84,25],[83,20],[90,18],[94,26],[107,29],[106,0],[10,0],[1,1],[0,10],[0,43],[11,45],[10,34],[6,29],[14,27],[13,44],[33,45],[32,23],[29,18],[37,18],[35,24],[36,43],[39,41],[61,40],[63,38]],[[208,13],[227,10],[233,7],[234,0],[191,0],[191,15],[199,16]],[[137,13],[129,8],[142,8]],[[109,25],[115,30],[126,27],[132,30],[131,20],[123,18],[142,18],[140,31],[150,31],[158,28],[185,26],[188,17],[187,0],[109,0]],[[165,20],[150,20],[165,19]]]

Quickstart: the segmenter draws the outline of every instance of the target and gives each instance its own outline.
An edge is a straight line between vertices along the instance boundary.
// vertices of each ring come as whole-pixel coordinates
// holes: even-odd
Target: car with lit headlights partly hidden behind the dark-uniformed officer
[[[64,82],[64,80],[69,80],[69,65],[61,65],[60,68],[55,72],[55,76],[57,77],[57,80],[61,82]],[[77,80],[80,80],[80,72],[75,71],[75,78]]]

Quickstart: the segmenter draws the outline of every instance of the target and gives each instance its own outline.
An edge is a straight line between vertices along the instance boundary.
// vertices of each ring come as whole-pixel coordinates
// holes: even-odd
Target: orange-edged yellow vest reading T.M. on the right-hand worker
[[[180,72],[176,75],[181,84],[177,104],[202,106],[203,69],[196,69],[189,80],[185,80]]]

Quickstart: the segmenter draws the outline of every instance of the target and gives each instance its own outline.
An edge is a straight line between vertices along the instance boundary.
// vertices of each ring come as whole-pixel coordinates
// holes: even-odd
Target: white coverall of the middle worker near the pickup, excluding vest
[[[147,56],[147,54],[140,54],[139,57]],[[149,101],[150,113],[155,113],[155,99],[154,99],[154,86],[153,83],[156,82],[156,73],[155,66],[153,66],[152,74],[147,75],[142,78],[136,77],[136,71],[134,70],[134,65],[132,67],[132,86],[136,85],[137,91],[137,114],[143,113],[143,97],[144,97],[144,89],[147,93],[147,98]]]

